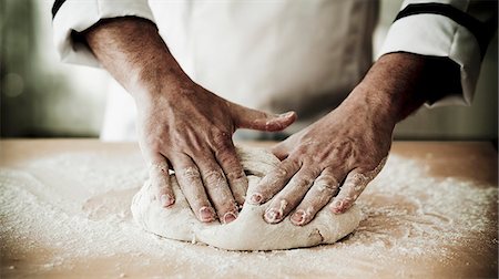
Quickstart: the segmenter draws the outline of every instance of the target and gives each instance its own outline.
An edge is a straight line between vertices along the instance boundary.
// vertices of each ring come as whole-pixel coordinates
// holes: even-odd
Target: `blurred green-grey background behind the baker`
[[[401,1],[381,0],[374,46],[380,48]],[[105,71],[59,62],[51,0],[0,0],[1,137],[98,137]],[[400,123],[398,140],[497,140],[497,34],[485,56],[472,106],[421,108]]]

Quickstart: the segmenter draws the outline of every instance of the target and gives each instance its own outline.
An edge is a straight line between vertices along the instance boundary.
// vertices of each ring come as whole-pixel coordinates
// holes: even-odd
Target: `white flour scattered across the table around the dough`
[[[353,235],[332,246],[274,252],[231,252],[144,234],[128,209],[146,177],[142,164],[139,154],[103,159],[68,153],[0,169],[2,275],[86,275],[85,267],[102,265],[110,277],[407,277],[421,272],[411,262],[465,270],[485,265],[472,255],[496,257],[488,252],[497,247],[497,188],[432,178],[400,156],[391,155],[360,195],[366,217]],[[405,268],[393,269],[398,266]]]

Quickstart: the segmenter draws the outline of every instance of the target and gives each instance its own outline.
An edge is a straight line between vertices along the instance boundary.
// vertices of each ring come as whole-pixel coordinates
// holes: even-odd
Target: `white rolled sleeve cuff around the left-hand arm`
[[[86,44],[75,40],[101,19],[134,16],[154,22],[147,0],[55,0],[53,41],[61,61],[100,66]]]

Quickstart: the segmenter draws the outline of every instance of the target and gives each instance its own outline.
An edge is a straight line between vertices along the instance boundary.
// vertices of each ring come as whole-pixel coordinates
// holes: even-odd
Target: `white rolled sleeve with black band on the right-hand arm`
[[[481,60],[497,28],[471,14],[476,4],[480,3],[469,0],[405,0],[379,56],[409,52],[450,59],[459,66],[460,76],[442,78],[441,82],[460,80],[460,92],[446,92],[435,104],[471,104]],[[489,19],[497,12],[493,10],[490,9]],[[497,13],[495,17],[497,20]]]

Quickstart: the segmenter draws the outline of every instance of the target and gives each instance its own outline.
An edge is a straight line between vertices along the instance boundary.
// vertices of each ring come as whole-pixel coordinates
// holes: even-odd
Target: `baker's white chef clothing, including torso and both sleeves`
[[[466,0],[405,1],[379,55],[449,58],[460,68],[454,79],[462,90],[438,103],[470,104],[485,54],[471,7]],[[144,18],[193,81],[245,106],[296,111],[299,121],[287,130],[293,133],[338,105],[369,69],[378,2],[57,0],[52,12],[62,61],[100,66],[74,35],[100,19]],[[134,115],[130,95],[112,92],[101,137],[134,138]]]

